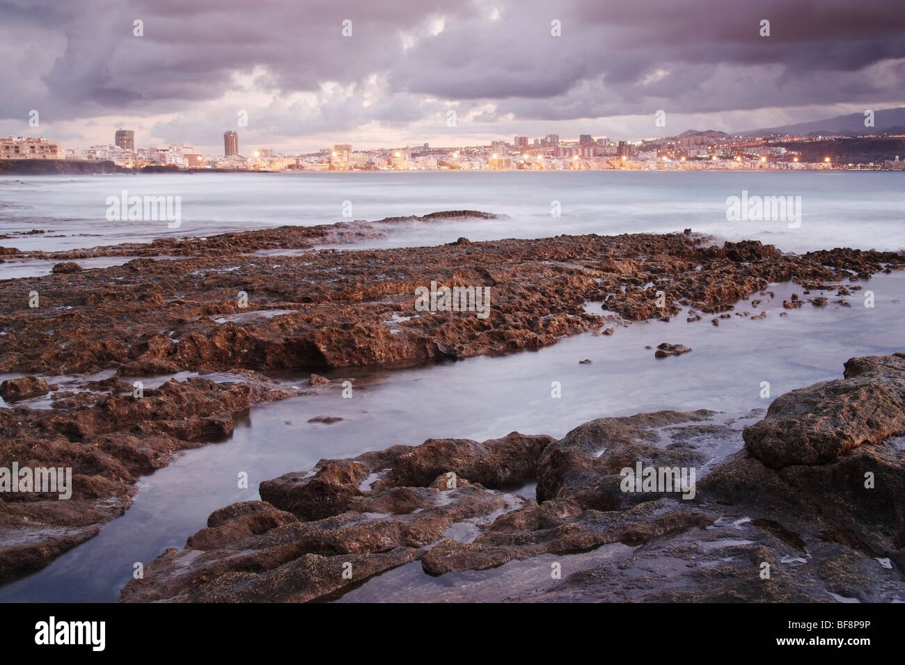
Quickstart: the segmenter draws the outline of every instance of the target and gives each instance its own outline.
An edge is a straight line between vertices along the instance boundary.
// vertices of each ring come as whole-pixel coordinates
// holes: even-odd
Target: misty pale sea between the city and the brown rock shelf
[[[122,191],[180,196],[180,227],[107,221],[107,197]],[[727,198],[743,191],[800,196],[801,225],[727,221]],[[350,217],[343,216],[345,202],[351,204]],[[561,216],[551,214],[554,202]],[[363,246],[433,245],[460,236],[481,241],[691,228],[729,240],[771,242],[786,252],[837,246],[905,249],[905,173],[844,171],[7,176],[0,178],[0,233],[13,237],[0,244],[54,251],[457,209],[506,216],[409,225]],[[33,229],[48,233],[19,234]]]

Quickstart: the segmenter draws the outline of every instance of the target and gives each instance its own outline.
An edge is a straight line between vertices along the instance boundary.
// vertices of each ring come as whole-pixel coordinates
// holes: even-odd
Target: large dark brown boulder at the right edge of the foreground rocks
[[[823,540],[905,562],[905,355],[852,358],[844,376],[777,398],[701,491],[788,512]]]

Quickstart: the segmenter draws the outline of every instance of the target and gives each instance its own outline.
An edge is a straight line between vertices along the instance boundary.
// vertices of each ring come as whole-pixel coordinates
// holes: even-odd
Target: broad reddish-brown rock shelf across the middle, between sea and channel
[[[278,253],[310,249],[300,239],[315,233],[339,231],[284,227],[96,248],[97,255],[162,258],[0,282],[0,372],[317,371],[465,358],[605,328],[587,301],[626,320],[672,318],[680,303],[718,313],[769,282],[828,284],[850,271],[905,266],[892,252],[795,256],[684,233]],[[39,254],[28,257],[45,258]],[[489,312],[415,309],[415,290],[432,282],[489,289]],[[32,291],[37,307],[29,307]]]

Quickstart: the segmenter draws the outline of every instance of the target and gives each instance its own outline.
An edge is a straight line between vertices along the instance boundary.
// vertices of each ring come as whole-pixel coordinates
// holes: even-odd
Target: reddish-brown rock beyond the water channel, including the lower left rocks
[[[727,242],[720,248],[692,233],[474,243],[462,238],[404,250],[307,251],[280,256],[276,270],[246,253],[261,242],[298,247],[296,233],[299,227],[226,233],[183,243],[185,261],[141,259],[90,271],[66,267],[49,277],[0,284],[7,292],[0,310],[5,330],[0,369],[108,373],[62,390],[29,379],[23,387],[31,386],[32,394],[2,411],[5,434],[20,442],[5,456],[28,450],[34,464],[73,460],[75,499],[82,502],[76,504],[78,517],[68,505],[50,500],[3,504],[3,524],[14,543],[3,557],[7,579],[46,565],[95,535],[129,506],[140,475],[166,465],[176,451],[229,436],[236,413],[305,392],[275,384],[261,371],[510,354],[588,330],[608,334],[608,327],[624,321],[670,318],[679,303],[691,309],[689,321],[697,325],[743,313],[758,318],[734,309],[760,291],[770,298],[765,291],[770,282],[793,280],[805,298],[808,290],[839,295],[843,288],[857,292],[857,282],[873,272],[905,264],[891,252],[834,250],[798,257],[759,242]],[[834,268],[826,267],[830,263]],[[422,265],[432,266],[430,275]],[[484,265],[494,267],[488,271]],[[491,318],[440,312],[408,317],[415,314],[410,311],[414,288],[432,276],[450,284],[490,284]],[[42,308],[22,309],[17,303],[14,294],[23,284],[36,285]],[[657,287],[667,297],[662,308]],[[250,307],[236,304],[239,290],[250,293]],[[611,313],[589,313],[586,301],[606,301]],[[802,306],[805,299],[789,303],[790,309]],[[812,306],[821,305],[806,305]],[[133,396],[130,379],[180,371],[231,373],[235,381],[169,382]],[[314,384],[312,391],[340,387]],[[43,402],[30,402],[35,399]],[[95,451],[88,466],[76,461],[85,446]],[[43,511],[43,531],[35,530],[36,510]],[[26,524],[30,545],[23,549]],[[61,538],[60,527],[71,531]]]

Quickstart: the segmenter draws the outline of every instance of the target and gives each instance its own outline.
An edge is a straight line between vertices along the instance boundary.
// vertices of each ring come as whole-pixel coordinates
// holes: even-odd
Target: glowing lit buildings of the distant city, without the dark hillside
[[[0,148],[3,141],[7,147],[2,148],[6,152],[0,154],[0,159],[12,154],[13,145],[32,146],[41,152],[37,153],[43,158],[74,159],[74,160],[110,160],[118,166],[128,168],[141,168],[143,166],[172,166],[172,167],[197,167],[197,168],[229,168],[247,170],[323,170],[323,171],[347,171],[347,170],[470,170],[490,167],[497,170],[537,170],[542,168],[567,168],[604,170],[607,168],[626,167],[642,170],[671,170],[672,163],[681,165],[682,170],[719,170],[721,168],[753,168],[757,162],[764,169],[790,168],[789,163],[795,163],[795,168],[864,168],[865,165],[837,161],[836,157],[809,157],[803,156],[802,151],[790,151],[785,147],[769,147],[764,150],[766,138],[743,138],[738,140],[711,141],[702,138],[660,138],[638,141],[614,141],[603,140],[597,143],[588,143],[587,135],[581,135],[579,141],[558,141],[550,147],[548,139],[536,139],[533,146],[529,147],[525,141],[517,141],[510,144],[508,141],[495,140],[491,145],[465,147],[461,150],[452,148],[414,146],[399,149],[365,148],[352,151],[348,144],[336,144],[333,150],[322,148],[317,152],[303,155],[281,155],[271,149],[259,148],[255,150],[253,157],[240,157],[236,154],[234,146],[235,132],[226,132],[225,152],[232,152],[224,157],[212,157],[199,155],[199,151],[188,145],[173,145],[165,148],[141,148],[138,150],[124,149],[120,146],[93,146],[86,150],[66,150],[63,155],[62,147],[55,141],[43,138],[0,138]],[[773,137],[771,140],[775,140]],[[229,140],[227,140],[229,139]],[[119,137],[118,137],[119,140]],[[230,142],[232,141],[232,143]],[[770,145],[770,144],[767,144]],[[545,148],[547,150],[545,154]],[[491,154],[491,150],[495,150]],[[531,153],[529,150],[538,150]],[[631,153],[631,154],[626,154]],[[758,154],[760,153],[760,154]],[[16,157],[18,157],[18,148]],[[795,156],[795,157],[793,157]],[[772,160],[771,160],[772,158]],[[444,164],[446,160],[446,164]],[[536,161],[535,161],[536,160]],[[739,162],[738,166],[729,166],[727,162]],[[884,166],[883,162],[874,165],[871,162],[866,167],[876,166],[880,168],[898,168],[895,162],[889,160],[891,165]],[[708,164],[710,162],[710,164]],[[569,166],[571,165],[571,166]],[[823,165],[823,166],[820,166]]]

